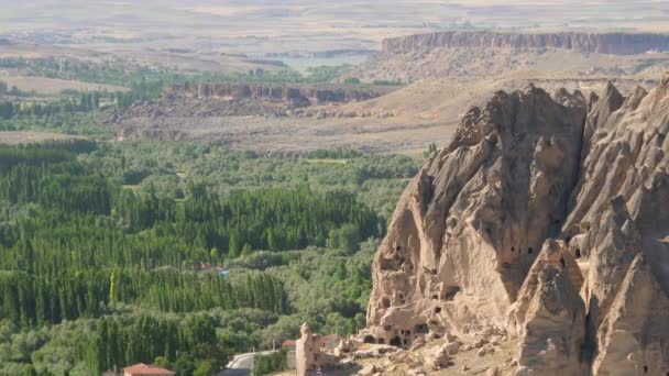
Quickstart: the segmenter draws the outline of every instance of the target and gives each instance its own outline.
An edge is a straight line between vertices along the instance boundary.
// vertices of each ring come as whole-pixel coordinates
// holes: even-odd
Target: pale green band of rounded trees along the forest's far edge
[[[329,161],[333,158],[339,161]],[[401,155],[359,155],[346,148],[262,155],[189,142],[108,144],[89,162],[105,176],[176,199],[242,189],[346,190],[384,219],[390,218],[407,179],[418,172],[416,161]]]

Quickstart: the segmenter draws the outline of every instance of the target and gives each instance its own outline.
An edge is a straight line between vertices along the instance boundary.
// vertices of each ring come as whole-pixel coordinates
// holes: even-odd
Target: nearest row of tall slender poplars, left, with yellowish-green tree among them
[[[43,276],[11,270],[0,272],[0,316],[22,328],[99,317],[107,312],[108,305],[117,302],[171,312],[216,307],[289,312],[283,283],[263,275],[232,284],[216,274],[176,270],[117,268]]]

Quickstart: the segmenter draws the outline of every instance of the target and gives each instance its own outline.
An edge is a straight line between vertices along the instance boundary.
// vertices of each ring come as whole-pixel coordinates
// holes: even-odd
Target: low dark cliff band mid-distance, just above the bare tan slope
[[[244,99],[263,102],[289,103],[296,107],[347,103],[373,99],[385,91],[376,88],[274,85],[274,84],[180,84],[165,90],[167,96],[193,99],[219,99],[240,101]]]

